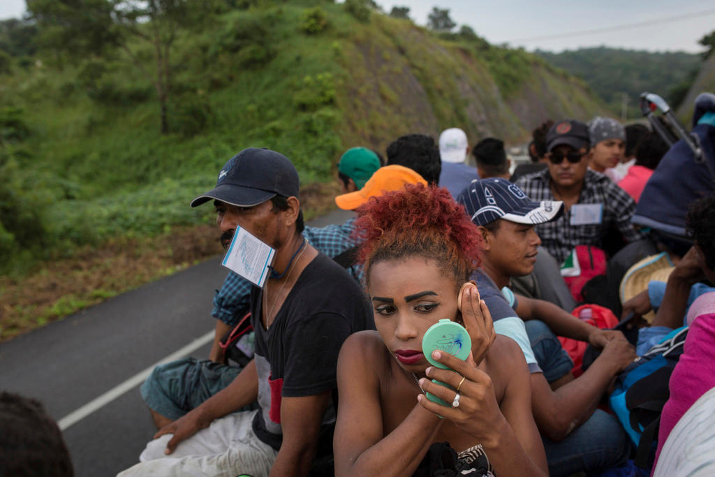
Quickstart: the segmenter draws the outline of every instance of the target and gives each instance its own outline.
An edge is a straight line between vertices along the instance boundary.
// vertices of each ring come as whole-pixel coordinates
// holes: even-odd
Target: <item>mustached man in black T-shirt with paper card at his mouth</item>
[[[348,335],[372,328],[372,311],[355,280],[302,237],[297,195],[290,161],[250,148],[192,202],[214,200],[222,232],[243,229],[275,250],[269,278],[251,290],[254,359],[160,429],[141,463],[120,475],[305,475],[319,447],[330,451],[337,353]],[[255,400],[257,411],[235,413]]]

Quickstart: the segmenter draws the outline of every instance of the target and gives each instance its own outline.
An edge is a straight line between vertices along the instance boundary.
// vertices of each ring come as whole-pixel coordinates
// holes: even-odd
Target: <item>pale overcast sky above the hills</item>
[[[450,9],[490,43],[550,51],[606,45],[649,51],[702,51],[698,40],[715,30],[712,0],[377,0],[385,11],[408,6],[424,25],[433,6]],[[18,17],[24,0],[0,0],[0,19]],[[558,35],[558,36],[557,36]],[[556,36],[556,37],[555,37]]]

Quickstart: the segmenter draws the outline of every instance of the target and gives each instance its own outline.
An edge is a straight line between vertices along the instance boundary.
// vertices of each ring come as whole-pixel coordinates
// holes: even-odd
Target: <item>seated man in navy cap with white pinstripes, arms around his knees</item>
[[[472,279],[494,329],[520,345],[531,370],[532,409],[549,472],[570,475],[622,463],[628,438],[618,421],[596,406],[611,379],[635,358],[628,341],[620,332],[599,330],[552,303],[515,295],[509,288],[512,277],[528,274],[536,263],[541,239],[534,226],[558,219],[563,203],[535,202],[504,179],[473,181],[457,202],[483,237],[481,267]],[[588,368],[574,380],[571,358],[549,327],[603,348],[596,370]]]

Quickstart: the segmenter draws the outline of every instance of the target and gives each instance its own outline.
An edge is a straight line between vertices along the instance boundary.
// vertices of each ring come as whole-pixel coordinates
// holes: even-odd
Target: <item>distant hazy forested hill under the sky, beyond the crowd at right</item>
[[[701,64],[701,56],[682,51],[651,53],[606,46],[536,54],[583,78],[615,113],[621,112],[623,94],[627,94],[629,117],[640,116],[638,98],[646,91],[661,95],[676,107]]]

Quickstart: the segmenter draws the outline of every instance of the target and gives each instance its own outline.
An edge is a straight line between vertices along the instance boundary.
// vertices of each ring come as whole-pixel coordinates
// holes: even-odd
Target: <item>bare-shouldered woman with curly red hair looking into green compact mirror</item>
[[[455,473],[440,475],[545,475],[523,353],[495,335],[468,282],[480,235],[463,207],[446,189],[407,185],[371,198],[355,226],[377,331],[351,335],[340,350],[335,474],[427,476],[446,465]],[[432,353],[450,369],[422,352],[425,331],[444,318],[472,340],[465,361]]]

